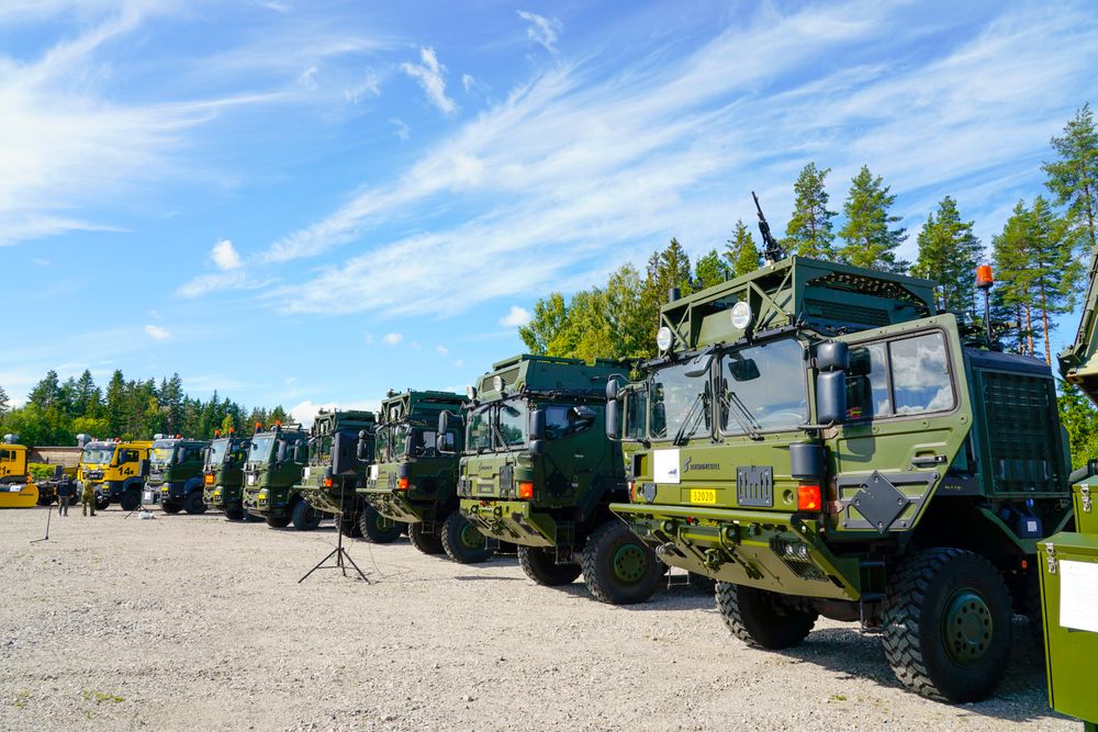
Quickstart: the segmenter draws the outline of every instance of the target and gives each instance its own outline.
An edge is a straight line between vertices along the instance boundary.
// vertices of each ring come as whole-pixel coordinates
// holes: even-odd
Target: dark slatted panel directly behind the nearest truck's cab
[[[1065,495],[1071,469],[1052,369],[1027,356],[976,349],[966,349],[965,359],[985,493]]]

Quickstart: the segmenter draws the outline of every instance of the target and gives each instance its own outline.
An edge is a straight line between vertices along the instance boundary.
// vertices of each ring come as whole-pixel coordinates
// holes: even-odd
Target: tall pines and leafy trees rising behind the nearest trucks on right
[[[1069,313],[1085,286],[1084,257],[1098,250],[1098,132],[1084,104],[1052,137],[1053,159],[1041,166],[1044,193],[1018,201],[991,237],[990,248],[974,234],[956,199],[945,195],[916,237],[917,257],[897,254],[907,228],[893,211],[896,194],[867,166],[850,181],[842,215],[831,210],[830,168],[804,166],[793,185],[794,206],[781,244],[789,255],[912,274],[932,280],[938,307],[955,313],[972,330],[984,326],[977,296],[977,266],[996,274],[993,325],[1008,350],[1052,363],[1054,317]],[[676,238],[649,257],[643,271],[626,263],[603,286],[565,300],[553,292],[538,300],[519,336],[533,353],[591,360],[657,354],[660,306],[670,288],[698,292],[746,274],[762,263],[748,225],[737,221],[720,249],[691,262]],[[1062,383],[1061,413],[1076,461],[1098,458],[1098,410],[1075,387]]]

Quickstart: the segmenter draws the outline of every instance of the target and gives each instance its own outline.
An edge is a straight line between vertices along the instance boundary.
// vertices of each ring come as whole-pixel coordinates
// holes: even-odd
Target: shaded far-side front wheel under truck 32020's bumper
[[[780,593],[730,582],[717,583],[717,608],[732,635],[771,651],[799,645],[819,617],[794,607]]]

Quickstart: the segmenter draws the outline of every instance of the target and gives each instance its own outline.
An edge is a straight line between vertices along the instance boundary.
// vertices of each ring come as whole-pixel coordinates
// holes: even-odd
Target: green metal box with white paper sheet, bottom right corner
[[[1096,730],[1098,533],[1065,531],[1040,548],[1049,699],[1056,711],[1089,720],[1086,729]]]

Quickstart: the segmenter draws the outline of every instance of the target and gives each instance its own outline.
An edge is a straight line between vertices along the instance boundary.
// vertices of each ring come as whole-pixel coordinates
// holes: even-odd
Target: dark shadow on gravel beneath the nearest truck
[[[1064,719],[1049,708],[1044,656],[1037,633],[1028,620],[1015,618],[1013,637],[1010,665],[995,696],[955,708],[962,716],[1011,722]],[[866,635],[854,628],[814,631],[804,644],[773,653],[821,666],[847,678],[867,678],[879,686],[909,694],[893,674],[881,645],[881,637]]]

